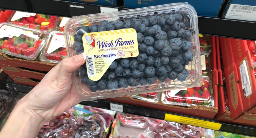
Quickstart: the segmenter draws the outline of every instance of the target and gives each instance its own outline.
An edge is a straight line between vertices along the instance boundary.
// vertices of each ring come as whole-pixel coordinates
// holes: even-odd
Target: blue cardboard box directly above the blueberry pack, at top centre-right
[[[141,8],[163,4],[187,2],[198,16],[217,17],[225,0],[124,0],[125,8]]]

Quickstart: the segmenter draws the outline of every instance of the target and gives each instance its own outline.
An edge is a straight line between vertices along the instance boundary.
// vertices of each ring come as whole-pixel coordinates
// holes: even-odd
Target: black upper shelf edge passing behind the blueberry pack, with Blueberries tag
[[[83,8],[74,8],[70,5],[82,6]],[[0,8],[28,11],[33,13],[43,13],[49,15],[73,17],[86,14],[100,13],[100,5],[84,4],[56,0],[1,0]],[[108,6],[102,6],[108,7]],[[118,8],[125,10],[126,8]],[[247,40],[256,40],[256,22],[219,19],[210,17],[198,17],[199,33],[212,36],[221,36],[229,38],[239,38]]]

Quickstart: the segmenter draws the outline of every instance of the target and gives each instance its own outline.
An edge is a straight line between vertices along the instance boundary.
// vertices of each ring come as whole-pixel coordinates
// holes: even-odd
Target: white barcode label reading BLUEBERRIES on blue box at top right
[[[225,18],[256,21],[256,6],[231,4]]]

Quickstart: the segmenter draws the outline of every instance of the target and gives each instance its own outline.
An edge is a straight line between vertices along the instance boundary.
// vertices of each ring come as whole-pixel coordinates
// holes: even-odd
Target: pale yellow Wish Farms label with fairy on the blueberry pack
[[[97,81],[115,59],[136,57],[139,54],[134,29],[86,33],[83,35],[88,77]]]

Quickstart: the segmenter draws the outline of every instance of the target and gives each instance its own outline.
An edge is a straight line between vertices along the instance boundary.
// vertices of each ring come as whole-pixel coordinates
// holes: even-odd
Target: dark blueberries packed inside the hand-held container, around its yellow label
[[[116,89],[129,86],[154,84],[158,79],[165,82],[178,79],[186,80],[189,75],[186,65],[193,60],[190,41],[191,32],[186,29],[185,16],[180,13],[165,16],[150,16],[150,18],[136,18],[102,22],[101,25],[83,26],[77,28],[74,35],[73,49],[77,54],[84,52],[82,36],[88,32],[108,31],[133,28],[137,32],[137,57],[116,59],[110,65],[102,78],[93,81],[87,76],[86,64],[80,68],[82,82],[91,91]],[[186,18],[186,17],[185,17]],[[185,28],[185,29],[184,29]]]

